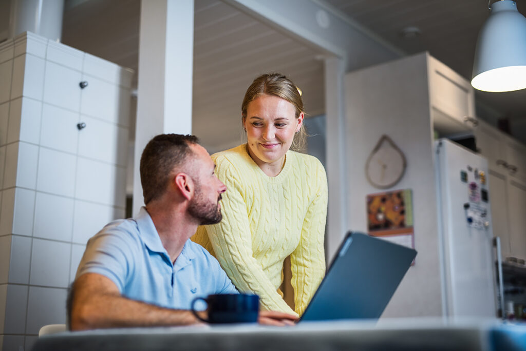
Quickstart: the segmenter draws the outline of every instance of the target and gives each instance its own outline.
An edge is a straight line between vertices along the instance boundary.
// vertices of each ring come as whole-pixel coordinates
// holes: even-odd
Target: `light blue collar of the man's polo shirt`
[[[151,220],[150,214],[144,206],[140,208],[139,213],[135,216],[135,222],[137,223],[140,237],[146,247],[148,247],[148,250],[164,254],[168,261],[171,262],[170,255],[168,255],[168,252],[161,242],[154,221]],[[195,259],[195,253],[191,249],[190,239],[188,239],[185,242],[185,246],[183,246],[183,251],[181,251],[175,261],[175,268],[181,269],[189,265],[193,259]]]

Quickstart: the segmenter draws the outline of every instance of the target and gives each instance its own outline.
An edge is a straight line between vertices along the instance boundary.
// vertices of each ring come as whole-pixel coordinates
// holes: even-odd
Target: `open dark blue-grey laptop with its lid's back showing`
[[[348,232],[302,321],[379,318],[417,252],[358,232]]]

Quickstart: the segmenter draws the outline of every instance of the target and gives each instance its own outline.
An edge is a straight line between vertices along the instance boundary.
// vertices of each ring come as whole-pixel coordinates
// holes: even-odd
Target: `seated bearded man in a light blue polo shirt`
[[[109,223],[88,241],[70,292],[72,330],[197,324],[197,296],[237,293],[213,256],[189,240],[200,224],[221,220],[226,191],[194,136],[158,135],[140,160],[145,207]],[[201,312],[206,316],[206,312]],[[262,324],[294,316],[261,312]]]

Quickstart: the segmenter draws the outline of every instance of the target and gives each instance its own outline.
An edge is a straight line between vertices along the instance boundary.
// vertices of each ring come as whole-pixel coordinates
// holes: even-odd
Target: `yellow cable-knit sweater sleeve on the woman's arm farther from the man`
[[[316,160],[317,161],[317,160]],[[296,313],[302,315],[325,275],[325,222],[327,219],[327,176],[316,162],[315,181],[311,185],[315,196],[310,203],[301,228],[298,247],[290,255]],[[316,181],[317,180],[317,181]],[[308,187],[307,187],[308,188]]]

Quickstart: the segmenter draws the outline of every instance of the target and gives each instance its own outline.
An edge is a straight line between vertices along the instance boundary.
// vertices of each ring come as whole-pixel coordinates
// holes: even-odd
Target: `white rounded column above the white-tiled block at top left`
[[[11,0],[9,38],[33,32],[60,42],[64,0]]]

